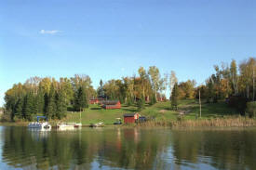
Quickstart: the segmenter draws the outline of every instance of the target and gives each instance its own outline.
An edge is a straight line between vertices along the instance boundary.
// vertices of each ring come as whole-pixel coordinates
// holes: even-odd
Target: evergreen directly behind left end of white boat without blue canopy
[[[64,117],[65,112],[67,111],[67,105],[66,105],[65,97],[62,90],[56,93],[55,99],[56,99],[56,116],[58,119],[61,119],[62,117]]]

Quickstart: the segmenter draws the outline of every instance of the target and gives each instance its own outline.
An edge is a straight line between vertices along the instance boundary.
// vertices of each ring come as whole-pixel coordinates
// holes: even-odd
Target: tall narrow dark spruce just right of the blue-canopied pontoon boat
[[[49,94],[47,96],[47,108],[46,116],[48,119],[54,118],[56,115],[56,104],[55,104],[55,90],[54,86],[50,86]]]

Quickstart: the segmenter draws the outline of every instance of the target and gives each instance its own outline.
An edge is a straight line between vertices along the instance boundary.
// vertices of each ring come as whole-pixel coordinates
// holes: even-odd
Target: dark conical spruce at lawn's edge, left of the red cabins
[[[83,111],[84,108],[88,108],[88,98],[85,89],[80,86],[75,94],[74,110]]]

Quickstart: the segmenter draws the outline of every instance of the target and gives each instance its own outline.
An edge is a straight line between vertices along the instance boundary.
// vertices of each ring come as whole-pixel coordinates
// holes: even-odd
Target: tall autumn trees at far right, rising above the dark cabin
[[[235,107],[242,114],[246,109],[256,111],[256,105],[253,104],[255,101],[256,59],[245,59],[239,64],[233,59],[229,64],[215,65],[214,69],[215,73],[209,76],[206,85],[196,87],[195,98],[198,98],[200,90],[201,98],[207,98],[208,102],[218,102],[225,98],[231,107]],[[252,114],[254,113],[252,112]]]

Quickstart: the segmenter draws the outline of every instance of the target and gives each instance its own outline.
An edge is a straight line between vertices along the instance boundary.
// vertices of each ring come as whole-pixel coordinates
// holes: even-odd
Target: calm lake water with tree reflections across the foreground
[[[256,129],[0,126],[0,169],[256,169]]]

